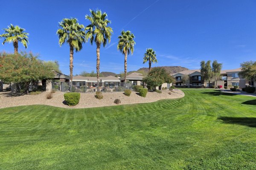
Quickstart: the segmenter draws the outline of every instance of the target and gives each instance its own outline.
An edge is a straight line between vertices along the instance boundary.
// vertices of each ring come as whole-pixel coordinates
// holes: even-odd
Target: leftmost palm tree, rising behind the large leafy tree
[[[20,28],[19,26],[13,26],[12,24],[8,26],[8,28],[4,28],[4,34],[1,34],[0,37],[3,37],[3,45],[6,42],[12,42],[14,46],[14,53],[18,53],[18,42],[21,42],[25,48],[27,48],[27,44],[29,43],[29,33],[23,32],[24,28]]]

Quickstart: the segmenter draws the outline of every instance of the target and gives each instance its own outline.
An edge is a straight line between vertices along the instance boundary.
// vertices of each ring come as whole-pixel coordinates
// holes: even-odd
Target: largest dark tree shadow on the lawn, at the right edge
[[[218,117],[218,120],[222,120],[224,123],[244,125],[249,127],[256,127],[255,117]]]

